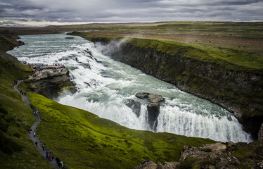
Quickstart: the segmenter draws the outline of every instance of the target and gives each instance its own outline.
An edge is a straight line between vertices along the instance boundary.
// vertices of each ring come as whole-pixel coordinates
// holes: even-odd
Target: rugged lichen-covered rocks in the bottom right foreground
[[[253,168],[263,166],[263,147],[259,144],[217,142],[201,147],[184,146],[178,162],[155,163],[143,161],[136,169],[159,168]]]

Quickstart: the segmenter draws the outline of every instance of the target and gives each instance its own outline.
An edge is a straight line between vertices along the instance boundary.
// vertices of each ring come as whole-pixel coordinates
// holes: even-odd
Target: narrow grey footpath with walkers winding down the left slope
[[[20,94],[20,91],[18,90],[18,85],[19,85],[21,82],[23,82],[23,80],[19,80],[18,83],[15,84],[15,86],[13,87],[13,89],[14,89],[16,92],[18,92],[18,94]],[[30,99],[28,98],[28,96],[25,95],[25,94],[20,94],[20,95],[22,96],[22,101],[24,101],[25,104],[30,107]],[[32,115],[33,115],[33,113],[32,113]],[[42,143],[40,142],[39,137],[37,137],[37,135],[34,137],[34,132],[36,131],[37,125],[39,125],[40,121],[41,121],[41,120],[39,119],[39,116],[34,115],[34,125],[32,125],[32,127],[31,127],[32,132],[27,133],[27,134],[28,134],[28,136],[30,137],[30,139],[32,139],[32,142],[33,142],[34,146],[36,146],[35,143],[37,142],[37,146],[36,146],[37,150],[39,151],[39,153],[40,153],[42,156],[44,156],[44,158],[46,158],[46,151],[48,151],[48,150],[47,150],[46,148],[44,148],[44,150],[43,150],[43,148],[42,148]],[[48,159],[46,159],[46,160],[49,161]],[[49,161],[49,163],[50,163],[54,168],[60,168],[60,167],[58,167],[58,164],[56,163],[56,159],[55,159],[55,158],[53,159],[53,161],[52,161],[52,160]]]

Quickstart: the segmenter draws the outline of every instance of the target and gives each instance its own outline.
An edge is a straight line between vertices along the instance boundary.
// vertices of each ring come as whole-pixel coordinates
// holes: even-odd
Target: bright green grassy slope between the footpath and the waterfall
[[[178,161],[184,145],[209,139],[131,130],[78,108],[29,94],[43,121],[37,133],[70,168],[134,168],[146,159]]]

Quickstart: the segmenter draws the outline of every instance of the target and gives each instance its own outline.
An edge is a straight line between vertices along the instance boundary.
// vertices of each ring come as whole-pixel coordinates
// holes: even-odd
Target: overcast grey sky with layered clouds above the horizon
[[[263,0],[0,0],[0,26],[262,21]]]

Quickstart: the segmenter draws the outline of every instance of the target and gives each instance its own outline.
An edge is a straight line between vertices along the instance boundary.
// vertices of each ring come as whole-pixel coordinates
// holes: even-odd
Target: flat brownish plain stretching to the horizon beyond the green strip
[[[263,23],[163,22],[70,25],[60,29],[91,31],[82,35],[170,39],[186,44],[230,48],[263,54]]]

